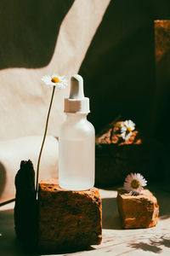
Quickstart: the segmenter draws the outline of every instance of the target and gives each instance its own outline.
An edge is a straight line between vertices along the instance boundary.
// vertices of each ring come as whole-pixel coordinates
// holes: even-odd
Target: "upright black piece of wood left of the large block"
[[[20,240],[32,247],[37,234],[37,201],[35,191],[35,172],[31,160],[20,163],[15,177],[15,232]]]

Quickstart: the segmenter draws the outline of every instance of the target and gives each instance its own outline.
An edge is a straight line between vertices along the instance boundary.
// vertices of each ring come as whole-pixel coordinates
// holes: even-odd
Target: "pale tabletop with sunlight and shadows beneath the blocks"
[[[156,184],[149,189],[156,195],[160,206],[156,227],[122,230],[116,207],[116,189],[99,189],[103,207],[102,244],[92,246],[86,251],[54,255],[170,255],[170,192]],[[14,202],[0,207],[0,256],[6,255],[30,255],[15,237]]]

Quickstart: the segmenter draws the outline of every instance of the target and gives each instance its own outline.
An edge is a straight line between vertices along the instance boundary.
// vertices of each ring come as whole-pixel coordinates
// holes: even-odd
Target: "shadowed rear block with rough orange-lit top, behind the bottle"
[[[122,121],[112,121],[96,135],[95,184],[108,187],[123,183],[130,172],[141,173],[148,181],[163,171],[164,150],[161,143],[144,138],[138,128],[128,140],[123,140]],[[160,177],[159,177],[160,178]]]

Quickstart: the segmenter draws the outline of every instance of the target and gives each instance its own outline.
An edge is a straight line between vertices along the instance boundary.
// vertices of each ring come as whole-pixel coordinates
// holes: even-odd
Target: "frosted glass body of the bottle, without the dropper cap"
[[[94,186],[94,126],[87,114],[67,113],[59,132],[59,186],[85,190]]]

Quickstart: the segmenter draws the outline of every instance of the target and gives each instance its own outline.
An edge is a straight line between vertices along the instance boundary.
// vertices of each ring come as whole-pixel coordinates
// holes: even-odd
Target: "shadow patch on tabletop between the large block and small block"
[[[122,230],[121,219],[119,218],[116,198],[102,199],[102,226],[106,230]]]

